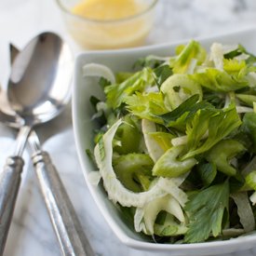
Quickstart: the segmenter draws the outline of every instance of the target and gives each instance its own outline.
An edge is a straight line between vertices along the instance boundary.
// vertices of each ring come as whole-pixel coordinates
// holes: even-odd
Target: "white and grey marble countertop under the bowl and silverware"
[[[75,55],[83,51],[66,31],[60,10],[52,0],[1,0],[0,24],[0,83],[3,88],[7,85],[10,71],[9,43],[22,48],[35,34],[52,31],[60,34],[71,45]],[[146,45],[225,34],[255,26],[254,0],[159,0],[155,27],[149,34]],[[46,130],[53,132],[46,133]],[[53,135],[56,133],[54,131],[58,133]],[[155,255],[129,249],[121,244],[95,205],[76,155],[71,107],[68,106],[57,120],[38,128],[38,132],[40,139],[46,141],[44,149],[51,155],[59,170],[61,180],[96,255]],[[7,155],[12,152],[16,134],[16,130],[0,124],[1,169]],[[20,194],[4,255],[61,256],[29,155],[30,151],[27,149]],[[225,256],[241,254],[256,255],[256,248]]]

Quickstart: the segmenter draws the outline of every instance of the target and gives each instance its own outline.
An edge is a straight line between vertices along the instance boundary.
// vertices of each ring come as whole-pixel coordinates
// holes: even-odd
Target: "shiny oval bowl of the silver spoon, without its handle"
[[[59,115],[71,99],[73,54],[57,34],[36,36],[15,58],[7,96],[27,126]]]

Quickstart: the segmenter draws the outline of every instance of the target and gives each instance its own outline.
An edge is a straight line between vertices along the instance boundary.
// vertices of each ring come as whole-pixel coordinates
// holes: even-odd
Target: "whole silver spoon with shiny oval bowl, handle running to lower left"
[[[73,54],[56,34],[39,34],[13,62],[8,97],[13,110],[21,114],[23,123],[14,156],[7,158],[0,176],[0,252],[5,248],[20,188],[24,165],[21,155],[28,135],[35,125],[58,115],[70,101],[72,69]]]

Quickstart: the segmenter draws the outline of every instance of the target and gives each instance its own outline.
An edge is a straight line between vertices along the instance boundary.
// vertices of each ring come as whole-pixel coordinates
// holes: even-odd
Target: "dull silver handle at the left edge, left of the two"
[[[20,174],[24,161],[20,156],[10,156],[0,175],[0,255],[3,255],[8,231],[20,189]]]

